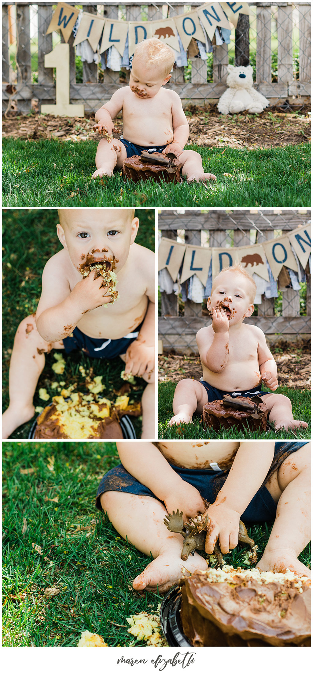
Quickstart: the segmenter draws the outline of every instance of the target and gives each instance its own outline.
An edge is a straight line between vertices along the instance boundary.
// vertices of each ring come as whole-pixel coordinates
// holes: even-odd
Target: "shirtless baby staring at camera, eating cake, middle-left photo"
[[[3,439],[34,415],[38,378],[51,349],[84,349],[94,358],[120,356],[125,373],[143,378],[142,438],[155,434],[154,254],[135,243],[139,226],[132,209],[60,209],[57,236],[63,249],[42,273],[36,317],[24,319],[9,368],[9,408]],[[82,266],[106,261],[117,275],[117,299]]]

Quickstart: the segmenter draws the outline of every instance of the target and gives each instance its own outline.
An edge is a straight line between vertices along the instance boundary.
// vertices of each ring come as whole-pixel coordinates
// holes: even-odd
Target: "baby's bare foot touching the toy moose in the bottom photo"
[[[144,571],[135,577],[133,587],[137,592],[153,592],[165,594],[181,577],[188,577],[190,573],[205,571],[208,567],[206,560],[195,552],[194,556],[188,556],[187,561],[182,561],[179,552],[171,549],[164,550]]]

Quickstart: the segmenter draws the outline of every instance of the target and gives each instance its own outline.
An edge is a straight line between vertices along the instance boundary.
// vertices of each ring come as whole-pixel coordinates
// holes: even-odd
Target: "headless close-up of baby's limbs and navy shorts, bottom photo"
[[[205,554],[181,560],[183,537],[163,523],[177,509],[184,521],[208,514],[207,555],[217,540],[223,554],[237,546],[240,518],[247,526],[275,519],[256,566],[310,577],[297,558],[310,541],[310,443],[119,441],[117,450],[122,464],[103,477],[96,505],[122,537],[154,558],[134,579],[137,591],[164,593],[208,568]]]

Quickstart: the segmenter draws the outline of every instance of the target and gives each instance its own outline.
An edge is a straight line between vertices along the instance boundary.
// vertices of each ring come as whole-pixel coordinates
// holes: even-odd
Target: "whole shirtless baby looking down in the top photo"
[[[92,178],[112,176],[115,166],[121,168],[125,158],[148,150],[174,153],[188,181],[216,180],[214,174],[204,173],[199,153],[183,150],[189,136],[186,115],[178,94],[163,89],[171,78],[174,61],[173,49],[156,38],[136,47],[130,86],[118,89],[96,112],[94,131],[104,138],[98,144]],[[119,112],[123,114],[123,138],[112,139],[112,120]]]

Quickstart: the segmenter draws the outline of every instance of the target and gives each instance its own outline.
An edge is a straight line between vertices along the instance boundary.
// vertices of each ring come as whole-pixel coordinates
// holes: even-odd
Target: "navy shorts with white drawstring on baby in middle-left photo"
[[[67,336],[67,338],[63,338],[65,352],[69,354],[73,349],[82,349],[82,352],[94,359],[115,359],[115,357],[125,354],[127,347],[132,345],[134,340],[136,340],[142,324],[143,322],[135,331],[117,340],[111,340],[111,338],[90,338],[76,327],[72,337]]]

